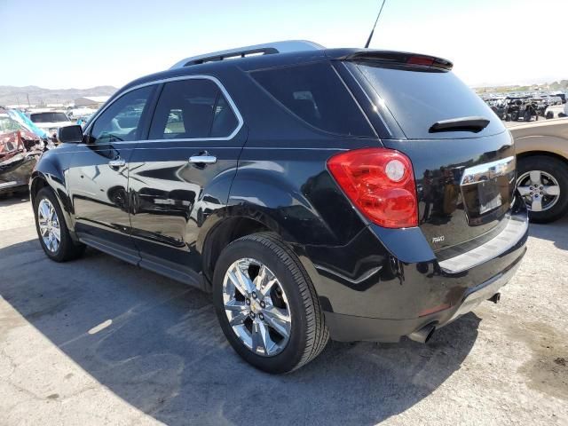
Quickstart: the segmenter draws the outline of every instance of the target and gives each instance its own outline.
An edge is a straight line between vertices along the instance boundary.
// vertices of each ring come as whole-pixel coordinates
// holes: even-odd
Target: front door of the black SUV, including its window
[[[99,115],[77,145],[67,178],[79,238],[132,263],[139,256],[130,238],[129,160],[153,91],[126,92]]]

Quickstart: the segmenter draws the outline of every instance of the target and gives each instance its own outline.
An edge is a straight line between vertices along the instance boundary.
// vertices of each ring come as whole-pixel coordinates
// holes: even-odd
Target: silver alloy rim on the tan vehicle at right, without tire
[[[531,170],[517,179],[517,189],[530,211],[551,209],[560,198],[560,185],[546,171]]]

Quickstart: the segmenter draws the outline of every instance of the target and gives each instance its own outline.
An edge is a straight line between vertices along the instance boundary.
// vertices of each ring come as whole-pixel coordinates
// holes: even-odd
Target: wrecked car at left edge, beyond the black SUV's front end
[[[45,144],[0,109],[0,194],[25,191]]]

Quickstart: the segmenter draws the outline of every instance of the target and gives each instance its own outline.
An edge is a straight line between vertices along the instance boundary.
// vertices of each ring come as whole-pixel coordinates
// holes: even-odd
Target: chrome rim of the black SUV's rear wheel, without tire
[[[264,264],[242,258],[229,266],[223,304],[234,334],[250,351],[272,357],[284,350],[292,324],[288,298]]]

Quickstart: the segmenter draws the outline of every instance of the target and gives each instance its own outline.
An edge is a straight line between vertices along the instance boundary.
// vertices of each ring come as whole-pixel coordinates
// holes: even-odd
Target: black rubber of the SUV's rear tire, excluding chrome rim
[[[223,302],[225,272],[237,260],[249,257],[266,265],[288,296],[291,316],[289,340],[280,353],[265,357],[249,350],[229,325]],[[296,370],[316,358],[325,348],[329,333],[312,280],[288,246],[274,233],[255,233],[229,244],[219,256],[213,278],[213,304],[225,337],[233,349],[252,366],[267,373]]]

